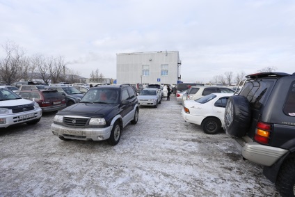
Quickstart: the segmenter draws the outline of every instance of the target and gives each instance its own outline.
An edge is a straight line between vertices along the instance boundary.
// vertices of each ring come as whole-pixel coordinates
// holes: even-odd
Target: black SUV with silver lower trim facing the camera
[[[122,129],[138,120],[138,99],[130,85],[90,88],[81,101],[54,117],[51,130],[61,140],[108,140],[116,145]]]

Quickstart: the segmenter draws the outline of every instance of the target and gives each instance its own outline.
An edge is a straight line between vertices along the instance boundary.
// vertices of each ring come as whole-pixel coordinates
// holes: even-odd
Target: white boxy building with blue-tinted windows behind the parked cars
[[[177,84],[179,52],[117,54],[117,84]]]

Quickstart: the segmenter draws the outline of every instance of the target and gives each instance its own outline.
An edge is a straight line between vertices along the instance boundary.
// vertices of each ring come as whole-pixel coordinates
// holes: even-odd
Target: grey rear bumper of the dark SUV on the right
[[[272,166],[280,157],[288,152],[288,150],[282,148],[262,145],[251,141],[248,137],[234,139],[234,145],[240,150],[241,155],[245,159],[263,166]]]

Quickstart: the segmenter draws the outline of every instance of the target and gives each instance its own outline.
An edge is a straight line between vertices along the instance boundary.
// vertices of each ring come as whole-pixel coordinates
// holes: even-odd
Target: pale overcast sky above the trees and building
[[[116,54],[165,50],[180,52],[185,82],[295,72],[294,0],[0,0],[0,17],[0,45],[64,56],[83,77],[115,79]]]

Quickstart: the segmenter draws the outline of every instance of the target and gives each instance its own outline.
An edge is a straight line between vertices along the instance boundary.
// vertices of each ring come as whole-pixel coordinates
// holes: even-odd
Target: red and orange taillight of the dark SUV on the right
[[[259,143],[269,144],[271,135],[271,125],[267,123],[258,122],[256,125],[256,132],[254,139]]]

